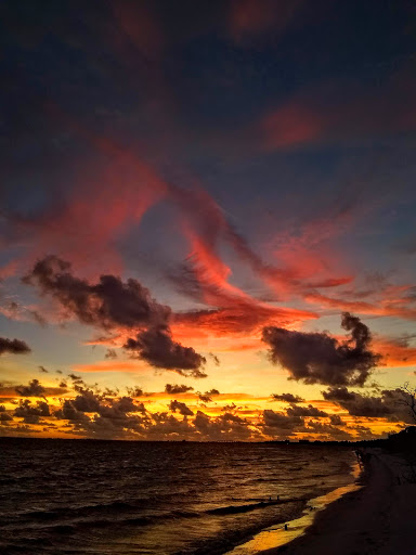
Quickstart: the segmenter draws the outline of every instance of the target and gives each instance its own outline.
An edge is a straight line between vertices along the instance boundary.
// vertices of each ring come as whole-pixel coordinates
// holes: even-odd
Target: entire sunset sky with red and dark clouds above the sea
[[[414,2],[4,0],[0,27],[0,435],[412,424]]]

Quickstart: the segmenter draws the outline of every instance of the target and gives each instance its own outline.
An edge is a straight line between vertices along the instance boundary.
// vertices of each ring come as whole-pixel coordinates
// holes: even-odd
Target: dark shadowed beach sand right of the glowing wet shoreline
[[[306,533],[261,555],[416,555],[416,485],[404,460],[370,452],[364,487],[338,499]]]

